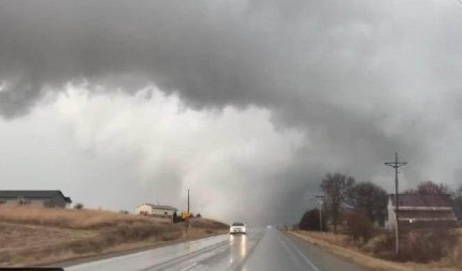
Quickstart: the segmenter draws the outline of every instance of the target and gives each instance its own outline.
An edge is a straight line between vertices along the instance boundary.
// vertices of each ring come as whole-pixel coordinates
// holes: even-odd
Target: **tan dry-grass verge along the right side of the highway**
[[[461,231],[459,231],[461,232]],[[357,265],[363,266],[369,270],[391,270],[391,271],[410,271],[410,270],[422,270],[422,271],[455,271],[461,270],[457,263],[461,263],[461,257],[459,254],[461,249],[460,246],[456,247],[454,255],[449,255],[442,258],[438,262],[431,262],[426,265],[419,263],[397,263],[394,261],[386,261],[384,259],[376,258],[370,252],[370,248],[365,245],[364,247],[358,247],[355,245],[348,236],[345,234],[334,234],[330,232],[312,232],[312,231],[290,231],[295,236],[306,240],[307,242],[321,246],[328,249],[329,252],[345,258],[348,261],[352,261]],[[374,243],[371,240],[369,243]],[[462,243],[461,243],[462,244]],[[369,244],[371,246],[371,244]]]

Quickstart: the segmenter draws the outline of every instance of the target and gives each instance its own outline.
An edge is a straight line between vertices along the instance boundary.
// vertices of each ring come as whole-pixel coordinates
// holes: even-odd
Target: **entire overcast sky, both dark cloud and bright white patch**
[[[462,183],[457,0],[0,1],[0,188],[296,222],[327,172]]]

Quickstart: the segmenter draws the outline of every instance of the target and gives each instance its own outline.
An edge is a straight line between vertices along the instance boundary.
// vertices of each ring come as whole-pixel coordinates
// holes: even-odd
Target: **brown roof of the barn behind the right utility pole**
[[[394,204],[394,194],[390,194],[390,199]],[[451,197],[449,194],[399,194],[399,206],[411,207],[447,207],[452,208]]]

